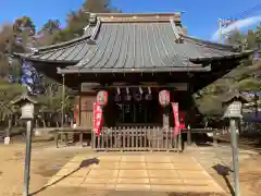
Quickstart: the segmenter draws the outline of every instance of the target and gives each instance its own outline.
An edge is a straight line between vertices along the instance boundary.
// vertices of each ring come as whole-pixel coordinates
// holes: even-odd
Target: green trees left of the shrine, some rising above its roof
[[[10,100],[21,95],[24,88],[18,84],[10,84],[4,78],[12,74],[21,74],[21,63],[13,61],[12,65],[8,62],[8,53],[25,52],[28,47],[48,46],[55,42],[71,40],[84,34],[84,27],[88,25],[87,12],[105,13],[121,12],[111,7],[108,0],[86,0],[79,10],[67,14],[66,26],[61,29],[58,20],[47,20],[47,23],[36,33],[36,26],[30,17],[24,15],[14,21],[13,24],[3,24],[0,30],[0,119],[14,112]],[[39,36],[36,39],[35,36]],[[21,42],[17,41],[20,38]],[[40,103],[41,111],[61,112],[62,107],[65,113],[72,110],[72,97],[70,89],[65,88],[65,97],[62,97],[62,85],[44,77],[46,93],[36,99]]]

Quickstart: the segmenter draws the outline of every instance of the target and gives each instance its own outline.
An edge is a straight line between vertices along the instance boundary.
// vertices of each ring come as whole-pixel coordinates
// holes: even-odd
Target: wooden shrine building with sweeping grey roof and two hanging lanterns
[[[189,36],[181,13],[98,13],[90,14],[82,37],[13,56],[77,89],[79,127],[94,128],[99,94],[101,132],[110,135],[94,139],[109,138],[104,145],[132,150],[149,148],[152,136],[146,130],[159,135],[153,137],[158,149],[171,148],[163,143],[167,134],[161,133],[175,126],[172,102],[178,103],[179,118],[185,118],[183,128],[197,127],[191,95],[227,74],[250,52]]]

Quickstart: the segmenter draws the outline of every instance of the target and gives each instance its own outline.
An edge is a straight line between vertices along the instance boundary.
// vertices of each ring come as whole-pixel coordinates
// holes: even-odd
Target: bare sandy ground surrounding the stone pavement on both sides
[[[30,192],[39,196],[175,196],[174,193],[149,193],[149,192],[109,192],[91,191],[85,188],[42,188],[48,180],[54,175],[70,159],[77,154],[87,154],[88,148],[60,148],[54,147],[53,142],[34,143],[32,154]],[[24,170],[25,144],[23,139],[14,139],[12,145],[0,145],[0,196],[22,195],[23,170]],[[261,187],[261,158],[250,155],[250,151],[241,152],[240,157],[240,182],[243,196],[258,196]],[[192,146],[186,154],[190,154],[201,166],[216,179],[229,194],[227,182],[233,184],[232,174],[225,179],[216,173],[213,166],[221,164],[231,167],[229,146],[197,147]],[[184,194],[182,194],[184,195]],[[194,195],[195,194],[188,194]],[[203,196],[200,194],[200,196]]]

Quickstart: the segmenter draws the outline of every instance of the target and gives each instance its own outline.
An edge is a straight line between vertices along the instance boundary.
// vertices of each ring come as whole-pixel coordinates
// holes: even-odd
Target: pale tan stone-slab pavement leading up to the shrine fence
[[[78,155],[47,184],[51,187],[225,193],[188,155]]]

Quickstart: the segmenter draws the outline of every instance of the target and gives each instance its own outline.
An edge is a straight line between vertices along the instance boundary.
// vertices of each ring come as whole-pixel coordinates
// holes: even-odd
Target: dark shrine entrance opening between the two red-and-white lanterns
[[[161,106],[154,88],[113,88],[104,107],[104,126],[161,126]]]

